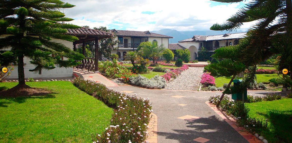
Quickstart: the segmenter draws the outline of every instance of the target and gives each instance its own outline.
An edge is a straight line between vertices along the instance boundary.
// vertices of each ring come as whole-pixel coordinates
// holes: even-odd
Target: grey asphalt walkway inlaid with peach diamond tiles
[[[158,143],[191,143],[197,138],[209,140],[208,143],[247,143],[205,103],[209,96],[221,92],[149,90],[131,85],[110,88],[131,95],[136,93],[142,98],[149,97],[153,113],[157,115]],[[249,93],[266,94],[263,91]]]

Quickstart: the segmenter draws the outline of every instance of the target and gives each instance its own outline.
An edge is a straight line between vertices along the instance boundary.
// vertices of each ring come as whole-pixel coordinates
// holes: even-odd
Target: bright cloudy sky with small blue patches
[[[241,3],[218,3],[209,0],[63,0],[76,5],[64,10],[70,23],[90,28],[153,31],[164,28],[178,31],[209,30],[214,23],[223,23]],[[245,31],[254,23],[245,23]]]

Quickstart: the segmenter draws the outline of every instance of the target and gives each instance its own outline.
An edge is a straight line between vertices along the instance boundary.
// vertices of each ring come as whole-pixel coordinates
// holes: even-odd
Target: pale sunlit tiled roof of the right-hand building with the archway
[[[211,36],[194,35],[192,38],[181,40],[181,41],[178,41],[178,42],[241,39],[241,38],[244,38],[245,35],[246,35],[246,32],[243,32],[243,33],[226,33],[226,34],[222,34],[222,35],[211,35]]]

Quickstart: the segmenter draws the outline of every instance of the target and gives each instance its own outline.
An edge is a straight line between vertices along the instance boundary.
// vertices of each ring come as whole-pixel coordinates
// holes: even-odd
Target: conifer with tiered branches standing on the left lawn
[[[64,33],[67,32],[66,28],[79,26],[60,23],[73,19],[65,17],[59,9],[72,7],[74,5],[60,0],[1,0],[0,35],[6,37],[0,38],[0,50],[6,50],[2,51],[6,54],[1,55],[17,58],[19,79],[17,87],[28,87],[25,85],[24,57],[29,58],[30,63],[36,66],[29,70],[31,72],[50,70],[56,66],[72,67],[78,64],[75,60],[84,58],[82,54],[52,40],[52,38],[71,42],[78,40],[77,37]],[[61,57],[64,57],[64,60]],[[5,61],[6,64],[11,62],[13,60]]]

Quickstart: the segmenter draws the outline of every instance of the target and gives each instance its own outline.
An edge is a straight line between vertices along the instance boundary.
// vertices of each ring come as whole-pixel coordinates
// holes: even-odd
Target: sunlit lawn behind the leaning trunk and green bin
[[[257,77],[257,82],[269,82],[271,78],[277,77],[277,74],[256,74]],[[219,77],[215,78],[215,85],[217,87],[223,86],[224,83],[229,83],[231,77]],[[242,78],[237,78],[237,79],[242,79]]]

